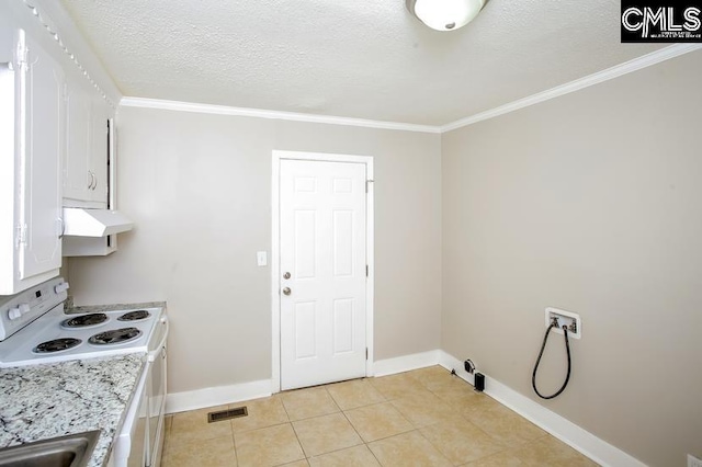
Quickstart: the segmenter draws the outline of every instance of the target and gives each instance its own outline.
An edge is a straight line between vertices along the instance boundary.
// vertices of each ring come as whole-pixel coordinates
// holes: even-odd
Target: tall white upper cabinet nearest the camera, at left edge
[[[61,265],[64,83],[38,44],[0,21],[0,295]]]

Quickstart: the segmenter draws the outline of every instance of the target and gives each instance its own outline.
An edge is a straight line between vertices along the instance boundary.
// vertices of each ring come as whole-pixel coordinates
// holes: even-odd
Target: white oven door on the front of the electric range
[[[168,318],[159,321],[161,332],[158,345],[149,352],[149,446],[146,465],[158,467],[161,464],[163,447],[163,418],[166,414],[166,368],[168,363],[166,339],[168,338]]]

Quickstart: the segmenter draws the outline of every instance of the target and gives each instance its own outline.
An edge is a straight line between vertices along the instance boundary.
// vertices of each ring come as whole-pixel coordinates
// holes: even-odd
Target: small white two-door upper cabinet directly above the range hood
[[[90,88],[66,87],[64,206],[107,207],[109,106]]]

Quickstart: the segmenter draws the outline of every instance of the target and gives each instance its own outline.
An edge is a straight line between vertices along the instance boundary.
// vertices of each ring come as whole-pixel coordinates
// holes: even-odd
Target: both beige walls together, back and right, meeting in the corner
[[[168,300],[171,391],[269,378],[271,150],[374,156],[376,357],[441,348],[537,400],[543,309],[579,312],[570,386],[542,403],[683,465],[702,452],[701,73],[697,52],[443,137],[122,109],[137,228],[71,259],[71,291]],[[545,391],[564,372],[551,342]]]

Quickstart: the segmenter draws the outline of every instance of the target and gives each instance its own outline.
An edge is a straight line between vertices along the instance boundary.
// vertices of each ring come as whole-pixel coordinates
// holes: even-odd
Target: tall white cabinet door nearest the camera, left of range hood
[[[58,64],[29,37],[21,70],[19,121],[24,150],[20,161],[19,277],[24,280],[61,265],[64,76]]]

